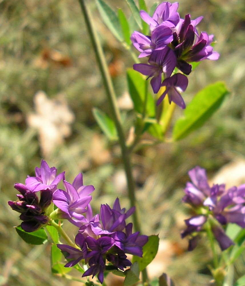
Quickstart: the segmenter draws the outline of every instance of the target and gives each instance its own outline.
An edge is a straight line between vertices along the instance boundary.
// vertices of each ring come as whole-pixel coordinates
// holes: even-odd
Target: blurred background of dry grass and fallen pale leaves
[[[134,62],[108,32],[94,1],[87,2],[129,128],[134,118],[126,68]],[[130,15],[124,1],[106,2]],[[153,1],[146,3],[150,7]],[[84,184],[95,186],[95,210],[117,196],[122,206],[129,206],[119,146],[107,140],[91,112],[93,107],[109,112],[94,53],[78,1],[1,0],[0,11],[0,285],[81,285],[51,274],[50,244],[27,245],[18,237],[13,228],[20,223],[18,214],[7,202],[16,199],[14,183],[34,175],[43,158],[58,172],[65,170],[70,182],[82,172]],[[138,151],[134,177],[143,232],[159,233],[161,239],[151,276],[167,272],[176,285],[208,285],[211,255],[205,238],[192,253],[186,252],[187,239],[180,239],[183,220],[190,217],[181,198],[187,172],[196,165],[207,169],[210,180],[216,176],[229,186],[245,183],[245,4],[180,0],[178,12],[182,18],[203,15],[198,31],[214,34],[214,50],[220,53],[218,61],[203,61],[190,74],[185,102],[217,80],[226,83],[230,95],[186,139]],[[175,118],[182,113],[176,109]],[[236,275],[244,271],[242,257]]]

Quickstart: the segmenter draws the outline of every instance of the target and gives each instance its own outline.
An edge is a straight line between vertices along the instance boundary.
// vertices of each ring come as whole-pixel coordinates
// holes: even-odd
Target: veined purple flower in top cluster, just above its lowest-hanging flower
[[[145,63],[135,63],[133,69],[148,76],[148,78],[152,77],[150,84],[153,92],[157,93],[161,87],[162,73],[164,73],[164,78],[168,78],[176,67],[176,56],[169,47],[164,47],[160,50],[154,50],[148,62],[149,65]]]

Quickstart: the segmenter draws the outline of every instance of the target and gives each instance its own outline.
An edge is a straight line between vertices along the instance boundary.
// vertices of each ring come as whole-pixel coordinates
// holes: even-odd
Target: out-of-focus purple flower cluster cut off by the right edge
[[[181,237],[190,236],[188,250],[197,245],[198,233],[205,229],[208,221],[212,233],[222,250],[233,245],[233,241],[225,234],[222,226],[236,223],[245,228],[245,184],[233,186],[226,190],[224,184],[209,186],[206,171],[196,166],[188,172],[192,182],[186,184],[182,198],[192,206],[196,215],[185,220],[186,229]]]

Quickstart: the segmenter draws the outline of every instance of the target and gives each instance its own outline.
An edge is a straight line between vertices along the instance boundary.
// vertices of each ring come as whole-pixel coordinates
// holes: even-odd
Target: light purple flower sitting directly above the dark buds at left
[[[25,184],[27,188],[33,192],[44,190],[52,187],[53,192],[57,189],[57,184],[63,180],[65,172],[56,176],[57,169],[55,167],[49,168],[46,161],[42,160],[41,168],[35,168],[36,177],[27,177]],[[55,188],[53,188],[55,186]]]

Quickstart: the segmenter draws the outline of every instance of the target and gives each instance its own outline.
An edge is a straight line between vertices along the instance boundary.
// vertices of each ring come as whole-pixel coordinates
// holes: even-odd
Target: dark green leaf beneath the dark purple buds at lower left
[[[23,239],[23,241],[29,244],[34,244],[34,245],[44,244],[47,242],[48,239],[47,233],[43,228],[28,233],[24,231],[19,225],[15,228],[15,230],[17,231],[18,235]]]

